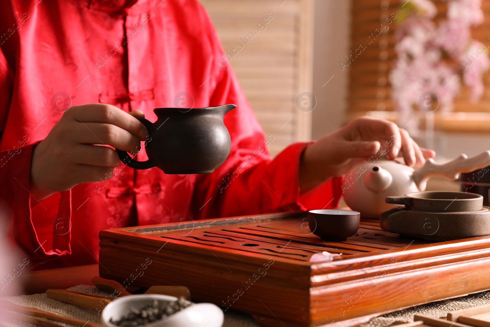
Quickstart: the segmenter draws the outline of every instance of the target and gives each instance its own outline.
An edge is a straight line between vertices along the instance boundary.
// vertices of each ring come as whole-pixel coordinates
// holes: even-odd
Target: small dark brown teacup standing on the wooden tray
[[[343,241],[359,229],[357,211],[323,209],[308,211],[308,225],[313,234],[325,240]]]

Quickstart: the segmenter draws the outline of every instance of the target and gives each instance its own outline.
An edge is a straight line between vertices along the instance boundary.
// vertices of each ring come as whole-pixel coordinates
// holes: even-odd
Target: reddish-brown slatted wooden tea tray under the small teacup
[[[362,220],[343,242],[304,212],[100,232],[99,274],[126,286],[185,285],[196,301],[261,326],[354,326],[402,308],[490,289],[490,237],[429,243]],[[316,252],[342,253],[310,263]]]

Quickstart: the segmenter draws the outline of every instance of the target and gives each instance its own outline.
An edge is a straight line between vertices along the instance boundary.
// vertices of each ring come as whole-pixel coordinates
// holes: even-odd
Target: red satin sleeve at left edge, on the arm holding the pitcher
[[[4,133],[14,85],[12,66],[0,50],[0,207],[6,209],[0,214],[8,219],[10,238],[35,263],[71,253],[71,192],[56,193],[39,203],[30,195],[31,154],[37,143],[27,135],[14,140]]]

